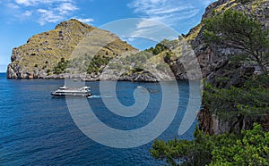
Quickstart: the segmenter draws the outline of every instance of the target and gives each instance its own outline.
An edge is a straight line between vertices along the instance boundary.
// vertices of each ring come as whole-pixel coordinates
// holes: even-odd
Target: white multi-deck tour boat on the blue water
[[[70,87],[59,87],[55,91],[51,92],[50,95],[54,96],[91,96],[90,87],[70,88]]]

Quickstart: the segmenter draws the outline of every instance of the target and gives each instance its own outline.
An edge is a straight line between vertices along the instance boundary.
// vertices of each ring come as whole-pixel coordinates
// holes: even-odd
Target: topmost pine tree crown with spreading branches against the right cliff
[[[243,12],[227,10],[204,21],[204,38],[212,46],[224,45],[242,51],[266,72],[269,62],[269,30]]]

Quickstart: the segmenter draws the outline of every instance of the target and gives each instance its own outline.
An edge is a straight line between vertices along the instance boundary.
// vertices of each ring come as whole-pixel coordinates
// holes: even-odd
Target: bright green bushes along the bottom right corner
[[[195,139],[155,140],[150,153],[169,165],[268,165],[269,133],[260,125],[242,130],[239,135],[209,136],[195,129]]]

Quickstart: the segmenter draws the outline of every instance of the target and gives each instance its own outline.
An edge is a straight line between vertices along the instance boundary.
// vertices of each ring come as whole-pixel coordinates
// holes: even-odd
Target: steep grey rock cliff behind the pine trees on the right
[[[211,17],[213,11],[224,12],[227,9],[237,10],[239,12],[245,12],[249,17],[255,17],[257,21],[260,21],[263,25],[263,29],[269,29],[269,2],[265,0],[249,1],[246,3],[240,3],[236,0],[219,0],[206,8],[203,19]],[[196,28],[197,29],[197,28]],[[194,34],[195,29],[192,29],[187,35]],[[197,36],[192,41],[192,46],[195,49],[196,57],[198,58],[204,78],[210,84],[215,87],[240,87],[245,81],[245,76],[254,74],[256,70],[254,67],[247,66],[232,66],[235,70],[230,71],[231,64],[228,60],[230,54],[241,54],[240,50],[230,48],[227,46],[215,46],[214,48],[207,46],[204,42],[203,35],[204,27],[199,26]],[[227,77],[227,81],[218,81],[219,78]],[[230,128],[234,120],[221,120],[211,112],[208,112],[206,108],[201,110],[198,114],[199,128],[205,133],[217,134],[230,131]],[[268,129],[269,119],[265,117],[259,121],[266,129]],[[247,129],[247,125],[251,125],[251,122],[244,120],[242,125],[243,129]],[[234,126],[234,129],[239,128]]]

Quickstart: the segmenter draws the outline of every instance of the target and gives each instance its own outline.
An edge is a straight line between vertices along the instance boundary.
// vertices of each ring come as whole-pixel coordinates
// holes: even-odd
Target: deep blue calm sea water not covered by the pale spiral
[[[49,95],[64,83],[64,80],[53,79],[5,79],[5,74],[0,74],[0,165],[164,165],[165,162],[149,154],[152,142],[117,149],[86,137],[74,124],[65,98]],[[137,86],[147,88],[151,96],[144,112],[134,118],[123,118],[106,109],[100,97],[99,82],[87,85],[94,95],[88,99],[93,112],[115,129],[141,128],[154,119],[161,106],[158,83],[117,82],[117,97],[122,104],[134,104],[133,93]],[[178,87],[178,112],[169,129],[159,138],[193,137],[195,124],[183,136],[178,136],[189,92],[187,82],[178,82]]]

